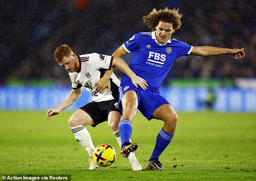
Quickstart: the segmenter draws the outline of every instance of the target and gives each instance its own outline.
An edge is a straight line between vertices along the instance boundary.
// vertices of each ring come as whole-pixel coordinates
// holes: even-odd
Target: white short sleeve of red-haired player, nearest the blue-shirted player
[[[89,57],[90,65],[95,69],[108,69],[112,67],[113,57],[107,55],[101,55],[99,53],[91,53]]]

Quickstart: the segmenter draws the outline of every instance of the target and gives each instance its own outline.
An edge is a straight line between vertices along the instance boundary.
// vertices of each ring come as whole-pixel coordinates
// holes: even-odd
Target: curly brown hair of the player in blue
[[[146,16],[143,16],[144,23],[155,31],[155,27],[159,24],[159,21],[164,21],[166,23],[171,23],[173,29],[179,29],[181,22],[180,19],[182,14],[178,12],[178,9],[168,9],[167,7],[162,10],[157,11],[155,8]]]

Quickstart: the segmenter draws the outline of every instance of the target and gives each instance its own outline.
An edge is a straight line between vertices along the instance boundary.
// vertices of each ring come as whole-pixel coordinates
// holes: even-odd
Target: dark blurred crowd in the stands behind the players
[[[53,58],[56,47],[67,44],[77,55],[111,55],[133,34],[151,31],[142,16],[165,7],[183,14],[172,38],[193,46],[245,48],[246,58],[182,57],[164,84],[171,78],[256,77],[254,0],[9,0],[0,10],[0,84],[39,78],[69,85],[67,72]],[[130,57],[124,60],[129,63]]]

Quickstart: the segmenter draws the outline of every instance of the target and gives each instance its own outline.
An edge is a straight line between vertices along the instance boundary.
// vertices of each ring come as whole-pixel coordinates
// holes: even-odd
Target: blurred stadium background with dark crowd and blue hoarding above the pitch
[[[162,95],[177,111],[256,112],[256,3],[254,0],[9,0],[2,1],[0,110],[48,110],[71,90],[55,48],[77,54],[113,51],[139,31],[153,8],[179,8],[172,38],[193,46],[245,48],[246,57],[179,58]],[[129,63],[131,55],[124,57]],[[115,70],[118,77],[122,72]],[[69,108],[91,101],[90,94]]]

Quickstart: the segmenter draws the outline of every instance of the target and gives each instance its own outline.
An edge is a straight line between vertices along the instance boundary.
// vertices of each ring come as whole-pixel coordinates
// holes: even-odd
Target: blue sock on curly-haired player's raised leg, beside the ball
[[[129,119],[123,119],[120,121],[118,129],[121,137],[121,144],[123,145],[124,142],[130,142],[132,136],[132,122]]]

